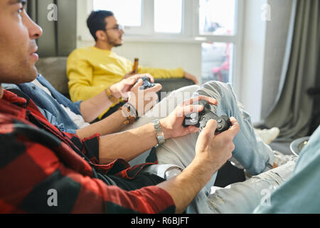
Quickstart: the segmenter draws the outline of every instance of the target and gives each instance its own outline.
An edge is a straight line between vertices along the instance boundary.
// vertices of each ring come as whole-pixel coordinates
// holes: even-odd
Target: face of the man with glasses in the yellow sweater
[[[107,26],[105,27],[105,32],[107,34],[107,43],[110,46],[121,46],[122,45],[122,34],[123,30],[119,31],[119,24],[114,16],[108,16],[105,19]]]

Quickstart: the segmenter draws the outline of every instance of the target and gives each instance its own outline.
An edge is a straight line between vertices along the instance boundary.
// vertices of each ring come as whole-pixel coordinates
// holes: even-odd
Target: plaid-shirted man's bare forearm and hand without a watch
[[[178,176],[161,182],[161,187],[171,195],[176,205],[176,213],[182,213],[196,197],[196,194],[208,183],[214,172],[231,157],[235,146],[233,138],[239,132],[235,118],[230,118],[232,126],[229,130],[215,135],[217,123],[209,120],[201,131],[196,143],[196,155]]]

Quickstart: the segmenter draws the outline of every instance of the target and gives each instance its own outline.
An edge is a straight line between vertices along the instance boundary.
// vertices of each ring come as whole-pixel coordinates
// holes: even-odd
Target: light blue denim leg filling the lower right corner
[[[320,126],[299,154],[292,177],[271,195],[270,207],[255,213],[320,213]]]

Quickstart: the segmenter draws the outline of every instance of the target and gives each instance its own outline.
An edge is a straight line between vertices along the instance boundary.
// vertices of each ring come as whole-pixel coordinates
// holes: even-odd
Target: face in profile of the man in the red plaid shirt
[[[37,76],[36,38],[41,28],[23,9],[23,0],[0,0],[0,83],[26,83]]]

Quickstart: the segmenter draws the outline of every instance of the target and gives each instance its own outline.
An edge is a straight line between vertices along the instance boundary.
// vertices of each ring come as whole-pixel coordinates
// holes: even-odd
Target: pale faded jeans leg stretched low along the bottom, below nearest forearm
[[[272,193],[282,185],[283,182],[292,177],[297,158],[290,160],[284,165],[262,172],[253,176],[245,182],[238,182],[227,187],[213,187],[206,199],[207,211],[199,209],[198,212],[214,214],[245,214],[252,213],[259,207],[269,209],[274,204]],[[199,204],[203,204],[198,202]]]

